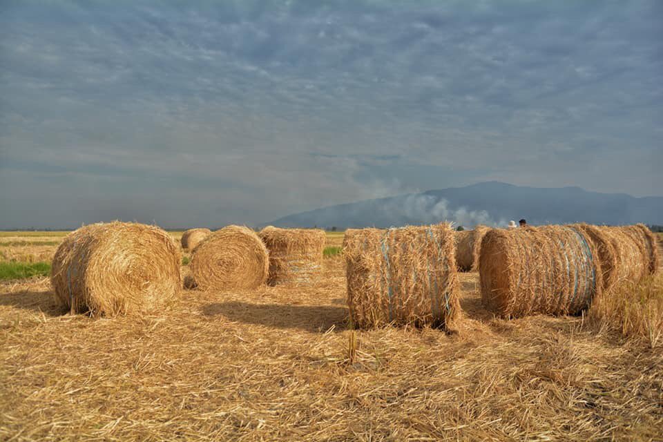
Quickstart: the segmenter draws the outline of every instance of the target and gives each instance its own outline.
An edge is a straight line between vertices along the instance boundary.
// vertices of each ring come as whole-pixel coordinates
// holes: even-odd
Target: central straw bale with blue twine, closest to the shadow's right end
[[[349,229],[347,305],[358,327],[453,329],[460,315],[454,233],[447,225]]]

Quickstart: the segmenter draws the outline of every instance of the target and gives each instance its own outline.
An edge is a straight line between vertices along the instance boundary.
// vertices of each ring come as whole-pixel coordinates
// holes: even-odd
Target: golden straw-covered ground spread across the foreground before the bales
[[[663,354],[580,317],[494,318],[459,273],[461,332],[349,329],[344,264],[314,285],[185,291],[142,318],[61,316],[0,282],[0,439],[657,440]],[[354,343],[354,345],[350,345]]]

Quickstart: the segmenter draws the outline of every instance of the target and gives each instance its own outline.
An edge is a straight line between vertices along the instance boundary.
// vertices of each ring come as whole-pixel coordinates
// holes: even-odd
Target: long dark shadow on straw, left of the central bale
[[[316,305],[250,304],[249,302],[214,302],[202,307],[205,316],[222,315],[229,320],[307,332],[335,332],[347,328],[345,307]]]

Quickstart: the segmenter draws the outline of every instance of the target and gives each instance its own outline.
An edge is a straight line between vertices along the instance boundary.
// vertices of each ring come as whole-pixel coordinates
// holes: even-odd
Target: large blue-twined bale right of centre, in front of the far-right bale
[[[481,300],[503,317],[578,314],[603,288],[599,252],[581,229],[491,229],[479,258]]]

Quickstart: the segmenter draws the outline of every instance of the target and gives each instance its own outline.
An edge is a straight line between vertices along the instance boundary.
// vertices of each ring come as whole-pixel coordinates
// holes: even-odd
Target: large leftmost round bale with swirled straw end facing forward
[[[90,224],[70,233],[52,261],[59,305],[92,316],[155,314],[180,295],[180,249],[158,227]]]

